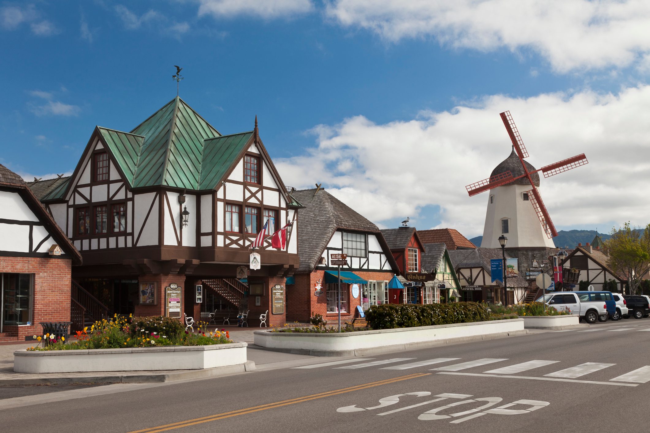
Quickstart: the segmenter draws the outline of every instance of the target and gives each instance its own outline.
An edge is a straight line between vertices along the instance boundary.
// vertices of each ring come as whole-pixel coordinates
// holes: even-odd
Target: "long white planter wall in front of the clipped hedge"
[[[292,332],[253,332],[255,345],[276,349],[302,349],[323,354],[349,354],[359,349],[376,349],[456,338],[471,338],[512,332],[524,333],[523,319],[493,320],[431,327],[413,327],[342,332],[341,334],[301,334]],[[318,354],[318,353],[315,353]]]

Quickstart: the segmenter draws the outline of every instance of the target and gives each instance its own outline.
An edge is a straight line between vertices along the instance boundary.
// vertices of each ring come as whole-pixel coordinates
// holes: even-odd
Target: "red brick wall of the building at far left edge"
[[[70,321],[72,260],[41,257],[0,257],[0,273],[34,274],[34,299],[31,326],[5,326],[0,341],[24,341],[40,335],[38,322]]]

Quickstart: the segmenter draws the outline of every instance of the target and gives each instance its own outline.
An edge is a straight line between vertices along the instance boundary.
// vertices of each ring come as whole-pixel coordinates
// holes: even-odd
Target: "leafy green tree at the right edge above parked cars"
[[[627,278],[631,295],[650,271],[650,224],[640,230],[633,229],[628,221],[610,234],[612,237],[604,241],[604,251],[614,271]]]

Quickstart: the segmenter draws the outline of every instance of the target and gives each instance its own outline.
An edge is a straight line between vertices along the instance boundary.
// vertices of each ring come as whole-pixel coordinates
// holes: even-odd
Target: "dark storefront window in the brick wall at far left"
[[[27,325],[32,321],[34,276],[32,274],[0,274],[2,276],[3,323]]]

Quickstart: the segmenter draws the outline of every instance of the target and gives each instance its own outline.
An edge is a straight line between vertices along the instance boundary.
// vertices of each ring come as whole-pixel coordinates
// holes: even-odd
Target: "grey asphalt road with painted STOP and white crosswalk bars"
[[[4,432],[591,432],[620,420],[645,432],[649,340],[650,319],[629,319],[364,358],[296,357],[230,377],[96,387],[111,394],[0,417]]]

